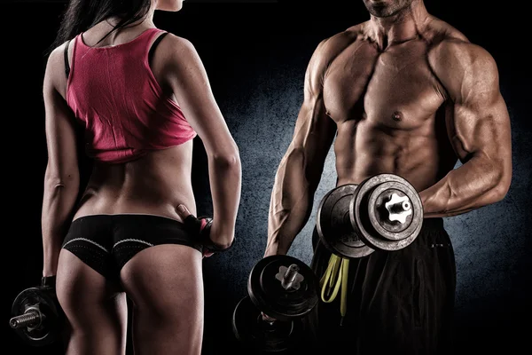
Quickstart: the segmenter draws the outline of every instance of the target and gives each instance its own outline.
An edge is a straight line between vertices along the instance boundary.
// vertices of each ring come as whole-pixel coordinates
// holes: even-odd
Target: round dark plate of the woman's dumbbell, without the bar
[[[35,305],[44,315],[40,324],[13,330],[31,346],[38,347],[54,343],[59,337],[61,312],[59,304],[49,292],[42,288],[27,288],[20,292],[12,304],[12,317],[24,314],[28,307]]]

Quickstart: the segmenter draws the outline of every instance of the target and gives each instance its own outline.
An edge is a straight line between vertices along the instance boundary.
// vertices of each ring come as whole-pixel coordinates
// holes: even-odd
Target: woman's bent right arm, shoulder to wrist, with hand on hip
[[[168,56],[164,60],[168,84],[207,152],[214,205],[211,239],[219,248],[228,248],[234,239],[240,201],[239,149],[216,104],[198,52],[184,38],[167,38],[171,42],[171,50],[164,54]]]

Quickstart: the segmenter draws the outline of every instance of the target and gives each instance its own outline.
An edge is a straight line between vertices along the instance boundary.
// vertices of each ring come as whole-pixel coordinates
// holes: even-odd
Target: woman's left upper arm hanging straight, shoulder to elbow
[[[59,93],[61,85],[66,83],[64,68],[63,46],[60,46],[48,59],[43,81],[47,170],[58,184],[76,179],[79,174],[74,114]]]

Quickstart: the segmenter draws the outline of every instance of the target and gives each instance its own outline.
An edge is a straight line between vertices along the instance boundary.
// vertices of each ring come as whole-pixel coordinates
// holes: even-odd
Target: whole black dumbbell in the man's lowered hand
[[[302,319],[317,304],[318,280],[293,256],[266,256],[250,272],[232,318],[233,333],[257,351],[285,351],[301,342]]]

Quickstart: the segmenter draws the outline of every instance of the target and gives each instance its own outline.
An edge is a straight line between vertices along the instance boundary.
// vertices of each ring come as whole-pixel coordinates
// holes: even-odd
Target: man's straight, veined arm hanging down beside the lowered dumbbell
[[[309,218],[313,196],[334,137],[335,125],[327,116],[323,101],[326,42],[317,45],[309,60],[304,99],[292,142],[279,164],[271,193],[269,240],[278,241],[272,244],[277,247],[271,248],[280,248],[284,253]]]

